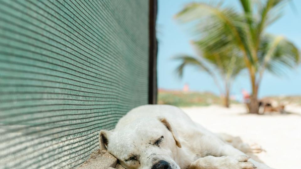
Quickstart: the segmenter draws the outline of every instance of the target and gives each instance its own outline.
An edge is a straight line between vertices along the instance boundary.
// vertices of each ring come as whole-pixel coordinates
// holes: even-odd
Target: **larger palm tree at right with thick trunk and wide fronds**
[[[264,72],[275,74],[299,62],[296,46],[283,36],[267,34],[265,29],[281,16],[289,0],[240,0],[243,13],[222,3],[190,3],[176,18],[193,24],[194,33],[211,52],[239,50],[251,81],[250,113],[258,113],[258,89]]]

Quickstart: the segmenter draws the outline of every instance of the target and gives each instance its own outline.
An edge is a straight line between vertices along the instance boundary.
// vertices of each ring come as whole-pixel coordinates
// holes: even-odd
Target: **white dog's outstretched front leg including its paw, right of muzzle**
[[[189,169],[254,169],[247,156],[205,156],[190,164]]]

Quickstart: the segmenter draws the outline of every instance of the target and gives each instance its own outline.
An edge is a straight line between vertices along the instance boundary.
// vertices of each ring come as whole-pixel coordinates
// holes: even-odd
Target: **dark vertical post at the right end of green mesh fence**
[[[149,93],[148,103],[157,103],[157,38],[156,38],[156,19],[157,19],[157,0],[149,0]]]

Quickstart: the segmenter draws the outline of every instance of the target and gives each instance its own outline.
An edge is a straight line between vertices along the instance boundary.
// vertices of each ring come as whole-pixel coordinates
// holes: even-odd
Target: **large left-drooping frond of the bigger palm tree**
[[[247,62],[254,62],[248,24],[234,8],[192,3],[180,11],[176,18],[182,23],[197,22],[195,33],[204,42],[200,42],[200,45],[214,45],[216,48],[212,50],[220,51],[228,50],[235,44],[247,58]]]

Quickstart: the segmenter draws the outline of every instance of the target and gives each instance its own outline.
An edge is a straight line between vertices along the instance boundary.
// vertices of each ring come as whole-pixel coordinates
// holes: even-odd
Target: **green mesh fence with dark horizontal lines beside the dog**
[[[73,168],[148,102],[145,0],[0,0],[0,168]]]

